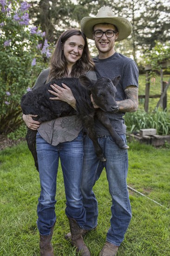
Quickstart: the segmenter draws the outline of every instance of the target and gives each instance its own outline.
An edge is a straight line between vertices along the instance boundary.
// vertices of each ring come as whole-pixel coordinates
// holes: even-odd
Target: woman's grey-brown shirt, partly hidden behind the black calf
[[[37,78],[33,89],[39,88],[46,84],[50,68],[44,69]],[[96,80],[94,71],[86,73],[89,79]],[[74,140],[82,130],[82,121],[77,115],[59,117],[52,121],[43,122],[38,128],[41,137],[53,146],[57,146],[61,142]]]

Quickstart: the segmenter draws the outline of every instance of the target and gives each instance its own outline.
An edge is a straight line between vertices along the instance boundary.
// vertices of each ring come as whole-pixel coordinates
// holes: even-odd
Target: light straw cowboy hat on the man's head
[[[109,6],[101,7],[96,17],[84,17],[81,20],[81,31],[85,33],[86,37],[93,39],[93,27],[99,23],[113,24],[118,28],[118,39],[121,41],[131,34],[131,22],[124,17],[116,17]]]

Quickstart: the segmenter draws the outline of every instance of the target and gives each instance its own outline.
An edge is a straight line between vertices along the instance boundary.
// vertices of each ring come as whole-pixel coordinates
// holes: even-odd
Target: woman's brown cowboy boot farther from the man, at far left
[[[50,235],[39,234],[40,235],[40,240],[39,240],[40,256],[54,256],[54,250],[51,244],[54,225],[52,226]]]

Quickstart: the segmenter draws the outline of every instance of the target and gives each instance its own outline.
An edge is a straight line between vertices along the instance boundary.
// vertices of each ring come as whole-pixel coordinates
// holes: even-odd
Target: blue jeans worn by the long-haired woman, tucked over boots
[[[84,226],[85,208],[80,194],[80,182],[83,163],[83,136],[52,146],[37,133],[36,148],[39,164],[41,193],[37,206],[37,226],[41,235],[49,235],[56,222],[55,195],[59,158],[64,177],[67,217],[75,219]]]

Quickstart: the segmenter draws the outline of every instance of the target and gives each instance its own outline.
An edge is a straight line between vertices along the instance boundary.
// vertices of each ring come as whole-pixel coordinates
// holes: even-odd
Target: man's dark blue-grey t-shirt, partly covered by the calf
[[[93,61],[95,63],[97,78],[107,77],[112,80],[115,76],[121,75],[120,81],[116,87],[116,101],[123,101],[126,99],[124,89],[127,86],[134,85],[138,87],[138,67],[135,61],[131,58],[128,58],[123,54],[115,53],[111,57],[102,60],[97,56],[93,58]],[[115,114],[106,113],[106,115],[109,117],[113,128],[119,135],[126,133],[126,126],[123,118],[125,113],[119,111]],[[110,135],[108,130],[97,119],[95,119],[95,130],[97,135]]]

